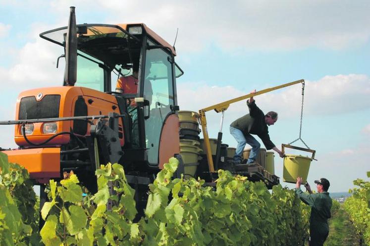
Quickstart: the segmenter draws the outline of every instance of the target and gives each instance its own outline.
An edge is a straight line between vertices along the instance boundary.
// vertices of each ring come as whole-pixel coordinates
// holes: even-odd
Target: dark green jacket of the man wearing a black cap
[[[331,217],[330,208],[332,205],[329,192],[308,194],[298,188],[296,193],[304,203],[311,206],[310,224],[327,224],[327,219]]]

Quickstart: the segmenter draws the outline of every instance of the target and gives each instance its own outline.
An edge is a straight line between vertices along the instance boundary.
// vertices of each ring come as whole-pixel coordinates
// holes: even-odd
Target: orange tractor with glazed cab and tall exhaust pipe
[[[73,170],[94,192],[95,170],[108,162],[123,164],[130,183],[150,184],[179,156],[175,80],[183,72],[174,47],[141,23],[76,25],[74,7],[68,27],[40,37],[64,48],[64,82],[20,93],[15,121],[0,123],[15,124],[19,148],[3,151],[9,162],[23,165],[37,184]],[[117,79],[133,66],[137,93],[115,92]]]

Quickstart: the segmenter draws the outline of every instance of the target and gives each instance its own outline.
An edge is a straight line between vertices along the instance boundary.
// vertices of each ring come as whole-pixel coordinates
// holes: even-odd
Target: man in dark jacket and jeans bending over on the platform
[[[256,93],[256,90],[251,93]],[[270,111],[264,115],[262,110],[257,107],[253,96],[247,101],[247,105],[249,114],[230,124],[230,133],[238,142],[234,162],[236,164],[240,164],[242,162],[243,149],[247,143],[252,146],[247,164],[256,162],[261,144],[251,134],[259,136],[267,150],[273,149],[280,157],[283,157],[284,154],[276,148],[268,135],[268,125],[273,125],[277,121],[277,113]]]

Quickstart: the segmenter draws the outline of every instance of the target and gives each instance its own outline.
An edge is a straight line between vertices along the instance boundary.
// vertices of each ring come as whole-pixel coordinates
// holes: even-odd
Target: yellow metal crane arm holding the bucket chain
[[[213,160],[212,160],[212,153],[211,153],[210,138],[208,136],[208,129],[207,129],[207,120],[206,120],[206,112],[207,111],[214,110],[217,113],[223,112],[223,111],[226,111],[228,109],[228,107],[230,106],[230,104],[232,104],[232,103],[236,103],[236,102],[248,99],[250,97],[254,97],[254,96],[261,95],[261,94],[264,94],[264,93],[267,93],[267,92],[270,92],[270,91],[274,91],[274,90],[277,90],[277,89],[281,89],[281,88],[284,88],[284,87],[287,87],[287,86],[295,85],[295,84],[298,84],[298,83],[304,83],[304,82],[305,82],[304,79],[300,79],[300,80],[293,81],[293,82],[290,82],[290,83],[286,83],[286,84],[278,85],[278,86],[275,86],[275,87],[267,88],[267,89],[264,89],[262,91],[256,91],[256,93],[254,93],[254,94],[250,93],[250,94],[247,94],[245,96],[237,97],[237,98],[234,98],[234,99],[222,102],[222,103],[218,103],[218,104],[212,105],[210,107],[199,110],[199,119],[200,119],[200,123],[202,125],[204,146],[206,147],[205,152],[207,154],[207,161],[208,161],[208,167],[209,167],[210,172],[214,172],[214,167],[213,167]]]

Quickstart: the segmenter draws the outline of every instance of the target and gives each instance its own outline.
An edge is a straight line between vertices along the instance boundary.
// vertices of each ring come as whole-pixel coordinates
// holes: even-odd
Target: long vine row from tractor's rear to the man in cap
[[[171,161],[150,187],[147,217],[139,222],[143,245],[296,246],[307,242],[309,207],[293,190],[277,185],[271,195],[263,182],[252,183],[222,170],[215,189],[203,180],[169,181],[175,170]]]

